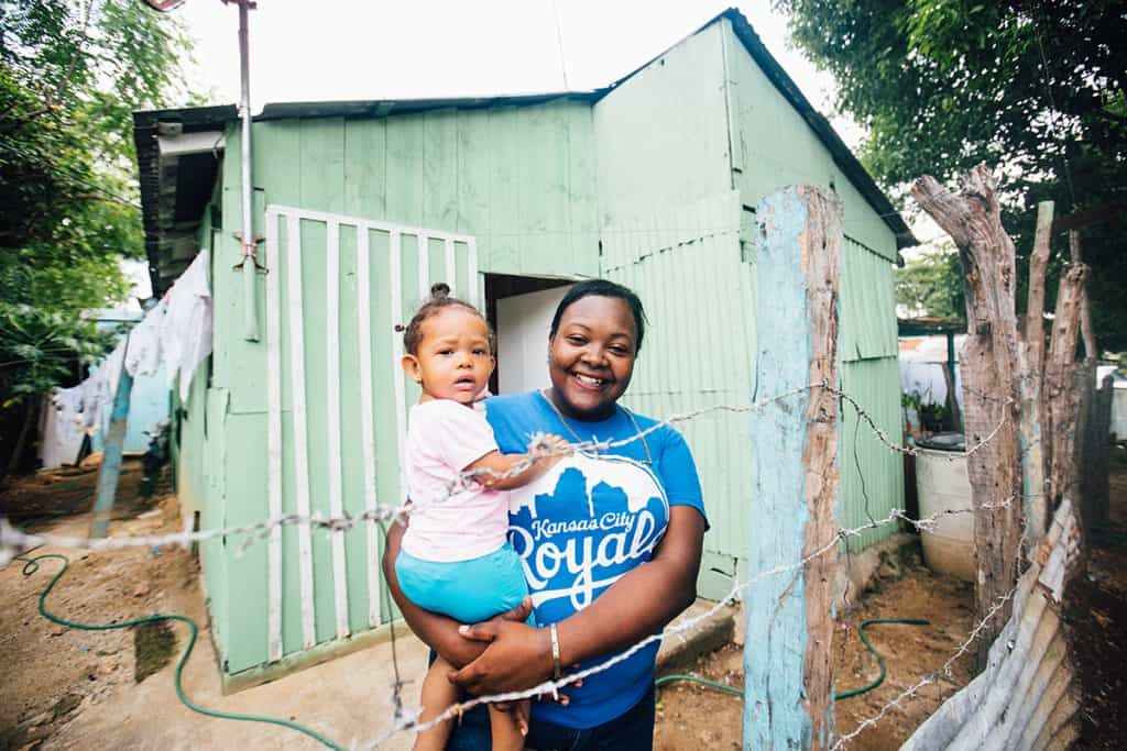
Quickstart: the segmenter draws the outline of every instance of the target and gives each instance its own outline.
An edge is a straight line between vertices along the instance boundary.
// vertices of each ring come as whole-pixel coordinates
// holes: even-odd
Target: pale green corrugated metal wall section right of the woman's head
[[[635,289],[649,319],[631,409],[665,418],[752,402],[755,275],[740,261],[739,217],[739,196],[728,193],[603,231],[604,275]],[[747,415],[713,412],[677,428],[703,484],[706,545],[737,555],[747,547]]]

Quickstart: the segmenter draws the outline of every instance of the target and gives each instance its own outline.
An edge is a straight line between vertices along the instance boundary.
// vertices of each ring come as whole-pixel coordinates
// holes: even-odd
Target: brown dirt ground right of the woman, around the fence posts
[[[1111,466],[1111,524],[1091,540],[1088,572],[1068,590],[1065,608],[1072,656],[1081,680],[1081,749],[1122,749],[1127,739],[1127,457]],[[866,629],[885,658],[887,677],[877,689],[835,703],[836,732],[855,728],[920,678],[939,669],[974,625],[970,584],[932,573],[922,565],[885,571],[849,615],[850,628],[835,633],[836,689],[867,685],[879,674],[857,626],[870,618],[923,618],[929,626],[878,625]],[[890,574],[890,575],[888,575]],[[743,686],[743,650],[726,646],[701,658],[691,672],[733,687]],[[950,676],[924,687],[903,707],[887,713],[850,745],[853,751],[897,749],[924,719],[971,677],[973,651]],[[659,689],[655,748],[739,749],[739,696],[691,682]]]

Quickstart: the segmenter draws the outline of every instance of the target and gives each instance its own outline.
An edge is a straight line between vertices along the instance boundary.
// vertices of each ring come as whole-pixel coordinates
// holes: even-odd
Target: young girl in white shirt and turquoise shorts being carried
[[[406,474],[411,511],[396,575],[415,605],[463,624],[487,620],[529,593],[524,571],[506,542],[508,494],[548,470],[567,445],[549,436],[536,455],[502,454],[485,415],[473,409],[494,369],[491,333],[472,305],[436,284],[403,333],[402,367],[423,386],[411,408]],[[521,462],[532,463],[509,475]],[[462,480],[463,473],[473,480]],[[423,681],[427,722],[458,700],[447,680],[453,667],[435,660]],[[490,705],[494,749],[521,749],[527,704],[517,712]],[[419,733],[416,749],[441,750],[450,723]]]

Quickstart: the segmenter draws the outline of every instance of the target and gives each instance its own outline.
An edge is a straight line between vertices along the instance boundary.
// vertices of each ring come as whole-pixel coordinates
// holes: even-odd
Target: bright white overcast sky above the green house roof
[[[334,99],[595,89],[729,7],[726,0],[258,0],[250,12],[251,106]],[[833,81],[789,44],[767,0],[740,2],[771,53],[829,115]],[[238,8],[187,0],[196,88],[239,97]],[[557,23],[558,19],[558,23]],[[561,54],[562,46],[562,54]],[[565,84],[566,75],[566,84]],[[859,128],[834,118],[850,145]]]

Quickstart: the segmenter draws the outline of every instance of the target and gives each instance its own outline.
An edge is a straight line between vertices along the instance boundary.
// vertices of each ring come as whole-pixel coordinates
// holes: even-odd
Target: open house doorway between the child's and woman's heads
[[[574,280],[486,275],[486,318],[497,334],[495,394],[520,394],[548,385],[548,332],[556,306]]]

